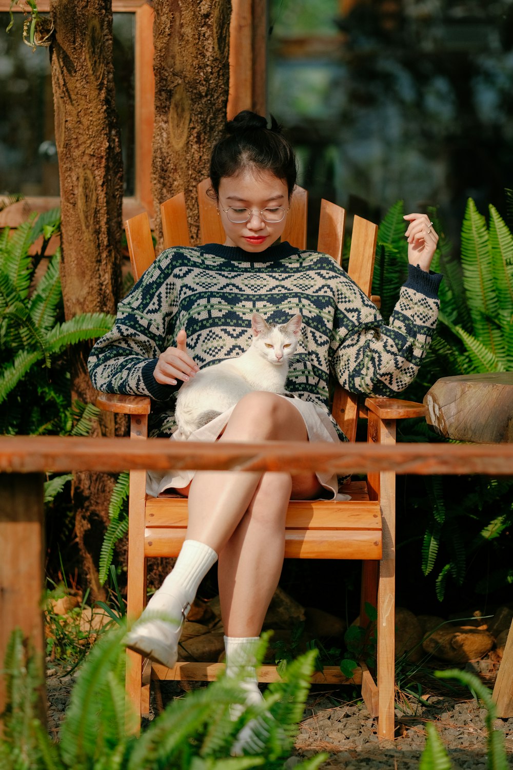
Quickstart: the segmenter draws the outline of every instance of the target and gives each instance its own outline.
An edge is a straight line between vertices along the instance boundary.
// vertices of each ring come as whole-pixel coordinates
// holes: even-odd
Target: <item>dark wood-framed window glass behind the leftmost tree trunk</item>
[[[58,196],[52,76],[48,49],[22,42],[23,15],[0,13],[0,194]],[[124,195],[135,194],[135,15],[113,15],[116,107]]]

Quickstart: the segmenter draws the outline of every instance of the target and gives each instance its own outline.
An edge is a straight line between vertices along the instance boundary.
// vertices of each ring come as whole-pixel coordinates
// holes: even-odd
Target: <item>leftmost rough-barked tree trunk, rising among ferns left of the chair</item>
[[[110,0],[52,0],[50,49],[62,206],[62,293],[65,317],[115,313],[121,293],[123,171],[115,111]],[[86,361],[90,345],[74,346],[72,397],[94,402]],[[98,429],[99,430],[99,429]],[[115,433],[114,423],[102,431]],[[93,598],[98,554],[108,521],[112,479],[75,477],[78,542]]]

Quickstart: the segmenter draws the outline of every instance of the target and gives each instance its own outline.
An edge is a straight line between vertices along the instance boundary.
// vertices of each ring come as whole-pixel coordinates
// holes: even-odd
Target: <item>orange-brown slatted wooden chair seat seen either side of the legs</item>
[[[285,521],[285,557],[381,559],[381,511],[365,481],[343,487],[351,500],[292,500]],[[145,556],[178,556],[187,529],[187,500],[175,494],[147,497]],[[341,531],[344,536],[341,537]]]

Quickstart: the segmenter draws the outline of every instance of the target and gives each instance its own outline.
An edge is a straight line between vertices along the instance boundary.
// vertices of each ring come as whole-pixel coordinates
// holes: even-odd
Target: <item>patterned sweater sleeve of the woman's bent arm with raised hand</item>
[[[441,277],[409,265],[388,326],[354,282],[339,287],[330,357],[342,387],[388,397],[408,387],[435,331]]]

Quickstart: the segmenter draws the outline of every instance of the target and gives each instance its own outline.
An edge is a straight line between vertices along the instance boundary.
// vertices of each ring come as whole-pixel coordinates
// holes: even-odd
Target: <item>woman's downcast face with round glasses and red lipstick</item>
[[[240,246],[248,252],[265,251],[283,233],[287,216],[281,222],[269,223],[261,218],[261,209],[288,209],[288,187],[271,172],[244,172],[223,176],[219,182],[218,209],[225,228],[225,246]],[[233,223],[225,209],[252,209],[248,222]],[[230,213],[232,219],[234,213]],[[236,216],[236,215],[235,215]]]

